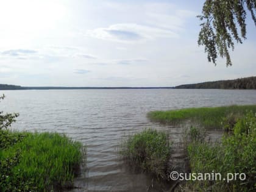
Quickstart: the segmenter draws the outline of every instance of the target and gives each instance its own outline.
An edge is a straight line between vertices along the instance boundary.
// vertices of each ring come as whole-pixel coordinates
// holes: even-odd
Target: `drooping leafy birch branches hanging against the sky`
[[[251,12],[256,25],[255,0],[206,0],[202,15],[197,16],[203,23],[197,43],[205,46],[208,61],[216,65],[218,55],[226,57],[226,65],[232,65],[229,49],[234,42],[243,43],[246,39],[246,9]],[[240,30],[238,30],[238,27]]]

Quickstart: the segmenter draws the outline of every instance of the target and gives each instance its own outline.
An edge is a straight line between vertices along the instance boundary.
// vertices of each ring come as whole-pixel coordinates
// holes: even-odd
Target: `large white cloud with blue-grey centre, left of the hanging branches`
[[[124,14],[129,12],[133,14],[129,17],[124,16],[126,23],[119,22],[107,27],[87,30],[87,36],[125,43],[157,38],[178,38],[180,31],[185,29],[187,18],[196,16],[195,12],[178,9],[176,5],[170,3],[127,5],[112,2],[107,5],[116,12],[123,10]]]

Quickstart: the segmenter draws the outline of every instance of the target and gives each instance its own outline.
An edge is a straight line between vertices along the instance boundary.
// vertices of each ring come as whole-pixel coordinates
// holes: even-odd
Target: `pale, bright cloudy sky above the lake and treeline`
[[[0,84],[172,87],[256,74],[256,27],[209,63],[197,45],[204,1],[1,0]]]

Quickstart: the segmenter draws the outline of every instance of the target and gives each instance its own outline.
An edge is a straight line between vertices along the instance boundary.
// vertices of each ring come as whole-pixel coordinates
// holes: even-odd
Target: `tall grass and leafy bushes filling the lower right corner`
[[[194,134],[196,132],[196,134]],[[208,143],[200,130],[188,132],[187,150],[191,172],[221,174],[221,180],[195,180],[187,183],[191,191],[255,191],[256,190],[256,115],[253,112],[238,119],[233,135],[224,135],[221,143]],[[191,139],[192,138],[192,139]],[[245,173],[246,179],[229,180],[228,173]],[[226,180],[223,180],[226,178]],[[230,178],[229,178],[230,179]],[[243,178],[244,179],[244,178]]]

